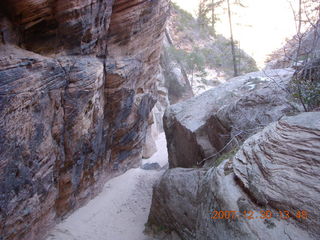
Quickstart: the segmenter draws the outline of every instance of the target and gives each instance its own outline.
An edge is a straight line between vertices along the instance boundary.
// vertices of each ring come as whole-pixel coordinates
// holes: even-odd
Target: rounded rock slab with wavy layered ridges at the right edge
[[[233,160],[243,187],[261,205],[309,213],[302,225],[320,229],[320,112],[284,118],[253,136]]]

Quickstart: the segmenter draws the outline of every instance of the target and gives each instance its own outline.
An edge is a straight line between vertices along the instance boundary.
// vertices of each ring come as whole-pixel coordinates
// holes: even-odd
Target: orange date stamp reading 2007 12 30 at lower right
[[[210,211],[210,217],[213,220],[235,220],[235,219],[246,219],[246,220],[257,220],[257,219],[272,219],[277,218],[280,220],[294,219],[308,219],[308,212],[305,210],[296,211],[294,213],[290,211],[278,210],[272,212],[270,210],[260,211],[221,211],[214,210]]]

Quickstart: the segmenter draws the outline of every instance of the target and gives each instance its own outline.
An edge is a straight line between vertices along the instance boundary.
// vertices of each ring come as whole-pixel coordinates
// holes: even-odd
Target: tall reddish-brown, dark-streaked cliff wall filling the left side
[[[41,239],[137,165],[168,1],[13,1],[0,10],[0,239]]]

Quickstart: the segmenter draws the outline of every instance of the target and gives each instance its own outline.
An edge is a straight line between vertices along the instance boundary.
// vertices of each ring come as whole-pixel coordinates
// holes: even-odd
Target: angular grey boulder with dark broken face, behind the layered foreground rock
[[[169,165],[192,167],[230,151],[269,123],[295,112],[286,92],[293,71],[250,73],[185,102],[164,115]]]

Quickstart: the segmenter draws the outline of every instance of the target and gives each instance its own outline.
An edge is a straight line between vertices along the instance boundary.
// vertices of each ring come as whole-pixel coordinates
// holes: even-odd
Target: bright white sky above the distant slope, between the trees
[[[193,15],[196,15],[198,1],[173,0]],[[296,33],[293,12],[288,0],[244,0],[244,2],[247,8],[233,8],[234,38],[261,68],[267,55],[281,48],[285,39]],[[217,32],[227,38],[230,37],[226,14],[221,17]]]

